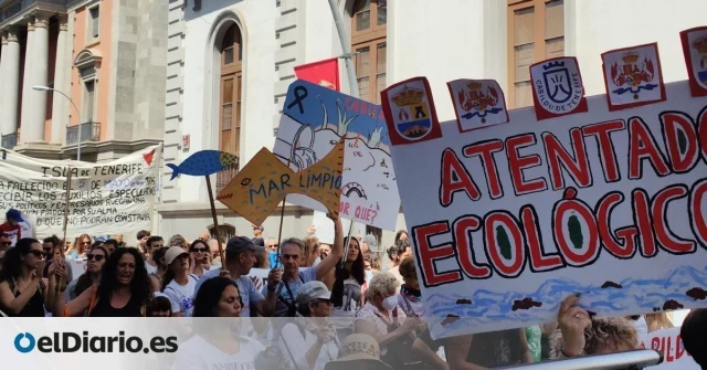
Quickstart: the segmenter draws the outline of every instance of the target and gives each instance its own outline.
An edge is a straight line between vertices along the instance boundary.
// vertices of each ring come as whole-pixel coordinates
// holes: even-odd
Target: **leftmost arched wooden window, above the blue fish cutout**
[[[221,43],[221,112],[219,149],[240,157],[241,85],[243,81],[243,41],[238,24],[232,24]]]

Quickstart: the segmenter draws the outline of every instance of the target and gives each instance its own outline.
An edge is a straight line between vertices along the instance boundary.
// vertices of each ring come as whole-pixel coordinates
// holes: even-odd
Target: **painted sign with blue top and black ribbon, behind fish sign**
[[[289,85],[273,152],[302,171],[346,139],[340,216],[384,230],[395,230],[400,197],[381,108],[305,81]],[[309,198],[293,194],[287,202],[326,211]]]

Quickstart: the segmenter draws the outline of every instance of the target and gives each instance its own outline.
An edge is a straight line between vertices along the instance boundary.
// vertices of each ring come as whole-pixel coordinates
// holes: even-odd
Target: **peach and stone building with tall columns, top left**
[[[167,3],[0,1],[2,147],[106,161],[160,142]]]

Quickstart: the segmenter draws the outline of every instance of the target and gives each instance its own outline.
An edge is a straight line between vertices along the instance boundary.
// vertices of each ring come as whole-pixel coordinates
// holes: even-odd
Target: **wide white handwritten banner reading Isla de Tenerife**
[[[62,235],[72,172],[67,236],[151,230],[161,148],[103,163],[46,160],[0,150],[0,210],[31,218],[36,237]]]

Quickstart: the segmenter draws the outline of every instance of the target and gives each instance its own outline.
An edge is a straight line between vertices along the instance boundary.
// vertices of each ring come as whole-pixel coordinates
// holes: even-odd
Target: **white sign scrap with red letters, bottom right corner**
[[[663,353],[663,363],[647,367],[648,370],[700,370],[685,350],[679,327],[648,332],[641,338],[641,345]]]

